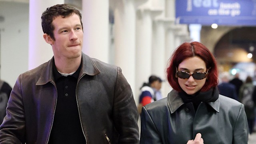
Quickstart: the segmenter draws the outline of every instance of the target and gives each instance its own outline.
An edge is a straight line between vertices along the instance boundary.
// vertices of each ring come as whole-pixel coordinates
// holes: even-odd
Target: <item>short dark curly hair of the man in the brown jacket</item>
[[[79,10],[73,8],[72,6],[69,6],[68,4],[56,4],[54,6],[47,8],[41,16],[43,32],[45,34],[48,34],[53,40],[55,40],[53,34],[54,26],[52,25],[52,21],[54,20],[54,18],[58,16],[66,18],[68,16],[71,16],[72,14],[77,14],[79,16],[83,29],[82,14],[79,12]]]

